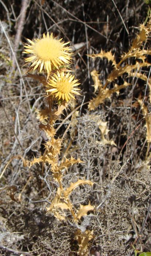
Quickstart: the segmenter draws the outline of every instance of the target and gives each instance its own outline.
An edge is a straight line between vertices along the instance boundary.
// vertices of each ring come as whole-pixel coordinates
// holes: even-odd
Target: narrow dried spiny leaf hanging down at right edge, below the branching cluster
[[[146,120],[146,125],[145,125],[147,129],[146,139],[147,139],[147,142],[150,143],[151,142],[151,113],[148,113],[148,108],[141,99],[139,99],[138,102],[140,106],[142,106],[142,112]]]

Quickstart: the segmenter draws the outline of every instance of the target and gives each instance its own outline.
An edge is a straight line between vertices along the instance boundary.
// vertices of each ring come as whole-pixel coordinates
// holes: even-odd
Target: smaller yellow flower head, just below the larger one
[[[55,98],[62,98],[68,102],[71,98],[75,99],[73,94],[80,95],[80,93],[77,92],[77,90],[80,89],[75,87],[80,83],[77,83],[78,80],[74,80],[74,76],[70,75],[70,73],[57,72],[57,74],[54,74],[51,78],[52,79],[48,81],[48,84],[53,88],[47,90],[47,92],[50,91],[51,95],[55,95]]]

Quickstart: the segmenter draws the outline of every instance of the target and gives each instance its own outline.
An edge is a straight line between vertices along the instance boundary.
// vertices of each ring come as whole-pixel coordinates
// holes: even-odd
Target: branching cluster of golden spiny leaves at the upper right
[[[92,72],[91,75],[94,80],[94,86],[96,86],[96,88],[94,88],[94,90],[96,91],[96,89],[99,88],[99,93],[96,98],[93,98],[90,101],[90,103],[89,103],[90,110],[94,110],[95,108],[97,108],[97,106],[100,105],[104,101],[104,99],[110,98],[112,93],[115,93],[115,92],[119,93],[120,89],[130,85],[130,84],[128,84],[128,83],[126,84],[124,82],[123,85],[121,85],[121,86],[115,85],[113,87],[113,89],[109,90],[109,89],[107,89],[107,85],[109,83],[114,82],[115,79],[117,79],[119,76],[122,77],[123,74],[128,74],[129,76],[133,76],[135,70],[140,71],[140,68],[149,67],[151,65],[150,63],[145,61],[147,59],[147,55],[151,55],[151,50],[150,49],[147,49],[147,50],[140,49],[140,46],[142,46],[142,43],[147,40],[148,33],[151,31],[150,23],[151,23],[151,20],[149,20],[149,22],[147,23],[147,26],[145,26],[144,24],[140,25],[140,33],[133,40],[132,47],[129,49],[129,51],[127,53],[124,53],[121,56],[121,60],[118,64],[115,63],[114,55],[112,55],[111,52],[105,53],[104,51],[101,50],[101,52],[99,54],[89,55],[92,58],[106,57],[108,60],[111,60],[115,66],[113,68],[113,71],[108,75],[108,78],[106,80],[104,87],[102,87],[101,81],[97,77],[97,72],[96,71]],[[142,60],[142,62],[136,61],[136,63],[134,65],[129,65],[129,64],[123,65],[122,64],[125,60],[127,60],[128,58],[131,58],[131,57],[135,57],[135,59],[140,59],[140,60]],[[146,78],[142,74],[139,75],[139,74],[137,74],[137,72],[136,72],[135,76],[139,77],[140,79],[146,80]],[[151,91],[150,81],[149,81],[148,85],[149,85],[150,91]],[[150,100],[151,100],[151,93],[150,93]]]

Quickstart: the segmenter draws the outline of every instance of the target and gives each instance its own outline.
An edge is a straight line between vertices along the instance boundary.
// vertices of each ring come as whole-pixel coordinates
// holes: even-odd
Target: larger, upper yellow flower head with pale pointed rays
[[[62,39],[54,37],[53,33],[47,33],[47,36],[43,34],[43,37],[34,41],[27,40],[31,45],[24,46],[26,49],[23,53],[30,54],[25,61],[32,63],[32,70],[38,69],[41,72],[44,68],[49,74],[54,67],[59,69],[61,65],[70,63],[72,53],[70,47],[66,46],[69,42],[62,42]]]

